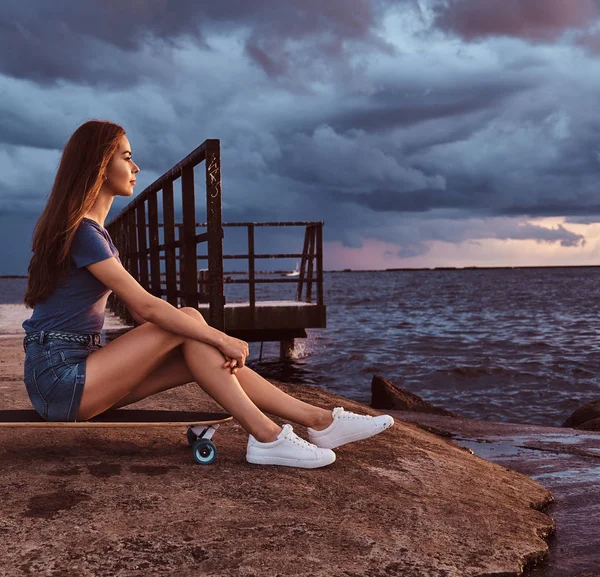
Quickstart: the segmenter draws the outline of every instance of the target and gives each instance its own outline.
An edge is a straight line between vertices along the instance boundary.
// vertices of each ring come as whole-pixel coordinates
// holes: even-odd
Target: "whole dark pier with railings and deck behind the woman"
[[[198,222],[194,194],[194,168],[204,163],[207,222]],[[181,178],[182,222],[175,222],[174,186]],[[159,222],[159,197],[162,222]],[[247,251],[223,254],[228,227],[247,229]],[[302,252],[257,254],[257,230],[264,227],[302,227]],[[199,310],[215,328],[248,342],[279,341],[282,357],[294,349],[294,340],[306,338],[306,329],[325,328],[323,302],[323,222],[232,222],[222,221],[220,143],[206,140],[191,154],[148,186],[106,225],[123,266],[151,294],[175,307]],[[205,228],[199,232],[198,228]],[[206,245],[206,253],[198,247]],[[264,278],[256,270],[258,259],[300,259],[297,278]],[[229,259],[248,262],[248,276],[233,278],[224,273]],[[199,269],[198,261],[208,261]],[[236,275],[237,276],[237,275]],[[248,300],[225,302],[226,283],[248,284]],[[257,301],[260,283],[294,283],[295,300]],[[313,295],[314,292],[314,295]],[[313,302],[315,301],[315,302]],[[135,322],[124,303],[111,294],[109,309],[127,324]]]

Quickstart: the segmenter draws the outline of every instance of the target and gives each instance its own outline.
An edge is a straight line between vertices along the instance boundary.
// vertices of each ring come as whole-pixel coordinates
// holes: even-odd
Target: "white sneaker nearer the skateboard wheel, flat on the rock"
[[[250,435],[246,461],[256,465],[283,465],[316,469],[331,465],[335,461],[335,453],[330,449],[315,447],[296,435],[291,425],[283,425],[277,439],[270,443],[261,443]]]

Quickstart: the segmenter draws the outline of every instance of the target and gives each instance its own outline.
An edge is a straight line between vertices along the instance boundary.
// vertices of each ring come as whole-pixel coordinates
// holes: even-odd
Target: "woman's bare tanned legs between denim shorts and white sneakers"
[[[205,323],[197,310],[181,310]],[[287,395],[249,367],[233,375],[223,363],[217,348],[146,323],[88,357],[78,419],[196,381],[259,441],[281,430],[259,409],[317,430],[331,423],[331,411]]]

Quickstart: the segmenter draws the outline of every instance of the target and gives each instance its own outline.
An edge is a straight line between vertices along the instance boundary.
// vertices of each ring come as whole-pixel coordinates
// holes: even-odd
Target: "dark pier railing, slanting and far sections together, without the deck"
[[[206,175],[205,223],[196,222],[194,195],[194,167],[201,162],[205,162]],[[183,222],[176,223],[173,182],[180,176]],[[160,193],[162,223],[158,222]],[[220,144],[218,140],[206,140],[148,186],[106,225],[119,249],[123,266],[148,292],[160,298],[166,296],[173,306],[198,308],[200,302],[208,303],[210,312],[207,321],[219,330],[225,330],[225,259],[248,260],[248,277],[227,282],[248,284],[252,309],[256,307],[256,285],[259,283],[297,283],[296,300],[303,300],[306,288],[304,298],[307,303],[312,303],[315,283],[317,304],[323,305],[323,222],[223,223],[221,194]],[[306,227],[302,253],[256,254],[255,229],[281,226]],[[197,227],[205,227],[206,232],[197,234]],[[247,254],[223,254],[224,227],[247,227]],[[204,242],[207,243],[207,254],[198,255],[198,244]],[[278,258],[300,258],[299,276],[276,279],[256,277],[257,259]],[[199,274],[198,260],[208,260],[207,274],[206,271]],[[161,261],[164,261],[162,268]],[[202,290],[202,287],[206,287],[206,290]],[[109,298],[108,306],[127,323],[133,324],[125,304],[114,293]]]

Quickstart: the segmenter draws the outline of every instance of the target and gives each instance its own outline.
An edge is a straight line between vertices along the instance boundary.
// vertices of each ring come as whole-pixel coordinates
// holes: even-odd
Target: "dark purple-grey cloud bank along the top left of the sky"
[[[0,72],[38,83],[62,79],[91,85],[134,84],[147,72],[134,56],[148,41],[154,42],[155,55],[164,58],[180,40],[208,48],[205,33],[242,30],[249,57],[267,74],[287,75],[315,59],[344,59],[348,41],[389,51],[375,33],[378,7],[384,4],[37,0],[24,9],[22,2],[5,0]]]

